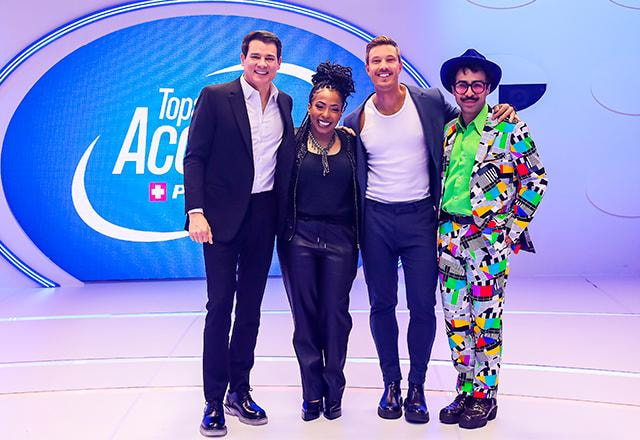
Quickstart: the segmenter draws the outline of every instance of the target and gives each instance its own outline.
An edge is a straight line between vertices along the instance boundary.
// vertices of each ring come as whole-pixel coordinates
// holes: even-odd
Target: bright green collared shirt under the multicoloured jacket
[[[462,125],[462,116],[456,121],[456,140],[451,151],[442,196],[442,209],[450,214],[471,215],[471,171],[488,114],[489,107],[485,105],[466,127]]]

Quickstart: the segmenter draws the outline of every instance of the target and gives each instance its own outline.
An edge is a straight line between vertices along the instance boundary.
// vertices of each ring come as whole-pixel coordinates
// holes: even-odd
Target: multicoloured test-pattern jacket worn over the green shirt
[[[505,232],[514,250],[534,252],[527,231],[547,187],[547,176],[536,146],[524,122],[497,123],[489,109],[469,190],[473,219],[479,229],[491,228],[492,234]],[[456,121],[444,130],[444,177],[456,139]]]

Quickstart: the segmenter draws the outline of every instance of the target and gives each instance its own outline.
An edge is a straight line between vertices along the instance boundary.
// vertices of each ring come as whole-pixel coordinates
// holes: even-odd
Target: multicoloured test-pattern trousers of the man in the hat
[[[478,398],[498,390],[502,310],[510,246],[502,230],[440,224],[438,270],[456,389]]]

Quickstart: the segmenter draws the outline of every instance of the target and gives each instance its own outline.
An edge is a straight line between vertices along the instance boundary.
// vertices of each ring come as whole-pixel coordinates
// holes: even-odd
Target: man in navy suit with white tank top
[[[378,415],[395,419],[403,412],[395,314],[400,259],[409,308],[410,368],[404,415],[409,422],[426,423],[424,382],[436,330],[443,130],[458,111],[438,89],[400,83],[400,49],[389,37],[376,37],[367,44],[366,69],[375,93],[346,118],[345,125],[358,136],[360,243],[371,333],[385,385]],[[502,118],[513,113],[505,107],[496,116],[505,110]]]

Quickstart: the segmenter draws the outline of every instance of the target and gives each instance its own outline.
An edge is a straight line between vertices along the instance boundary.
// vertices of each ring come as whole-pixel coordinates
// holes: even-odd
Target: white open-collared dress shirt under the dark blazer
[[[284,123],[277,101],[278,89],[271,84],[271,93],[263,111],[260,92],[249,85],[244,75],[240,77],[240,84],[251,126],[254,169],[251,194],[271,191],[276,172],[278,147],[284,133]]]

